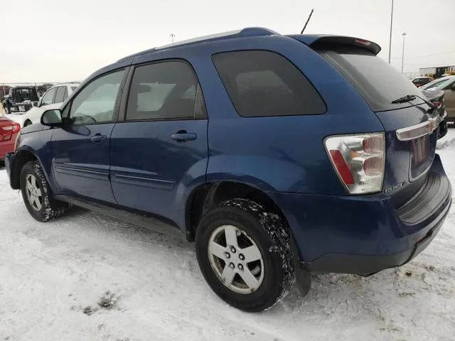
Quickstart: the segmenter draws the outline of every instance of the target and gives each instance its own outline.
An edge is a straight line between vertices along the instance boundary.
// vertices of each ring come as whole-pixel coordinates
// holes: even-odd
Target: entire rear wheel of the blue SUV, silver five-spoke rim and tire
[[[294,257],[281,218],[246,199],[210,210],[196,232],[205,280],[226,303],[247,312],[272,307],[295,281]]]

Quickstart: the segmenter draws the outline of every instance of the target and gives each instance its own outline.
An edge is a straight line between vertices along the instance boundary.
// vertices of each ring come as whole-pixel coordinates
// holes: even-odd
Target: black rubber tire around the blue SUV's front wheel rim
[[[41,191],[41,207],[38,209],[38,205],[33,206],[28,199],[26,181],[28,176],[31,175],[36,179],[36,188]],[[68,208],[68,204],[55,200],[52,196],[52,192],[48,185],[48,181],[45,179],[43,169],[39,161],[29,161],[26,163],[21,170],[21,192],[23,202],[25,203],[30,215],[38,220],[38,222],[47,222],[50,219],[56,218],[65,212]]]

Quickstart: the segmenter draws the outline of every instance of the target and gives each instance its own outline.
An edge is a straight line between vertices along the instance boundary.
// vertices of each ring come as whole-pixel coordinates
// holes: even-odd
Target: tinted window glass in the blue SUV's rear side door
[[[136,67],[129,91],[127,120],[192,119],[198,79],[181,61]]]

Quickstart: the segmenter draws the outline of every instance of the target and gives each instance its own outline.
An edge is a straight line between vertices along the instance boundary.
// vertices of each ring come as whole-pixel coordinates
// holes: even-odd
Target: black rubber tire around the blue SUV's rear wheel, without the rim
[[[210,237],[223,225],[232,225],[245,232],[260,251],[264,275],[260,286],[251,293],[237,293],[225,286],[210,265]],[[228,247],[228,243],[225,244]],[[271,308],[289,293],[295,282],[291,239],[282,219],[251,200],[228,200],[204,215],[196,232],[196,255],[210,288],[226,303],[247,312]],[[238,273],[235,276],[240,278]]]

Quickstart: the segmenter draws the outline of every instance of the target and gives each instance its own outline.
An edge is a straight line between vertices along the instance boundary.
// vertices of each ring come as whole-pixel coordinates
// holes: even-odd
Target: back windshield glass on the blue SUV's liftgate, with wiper
[[[374,112],[401,109],[422,104],[417,97],[412,102],[392,104],[407,94],[422,96],[417,87],[395,67],[363,48],[336,48],[319,51],[360,92]]]

